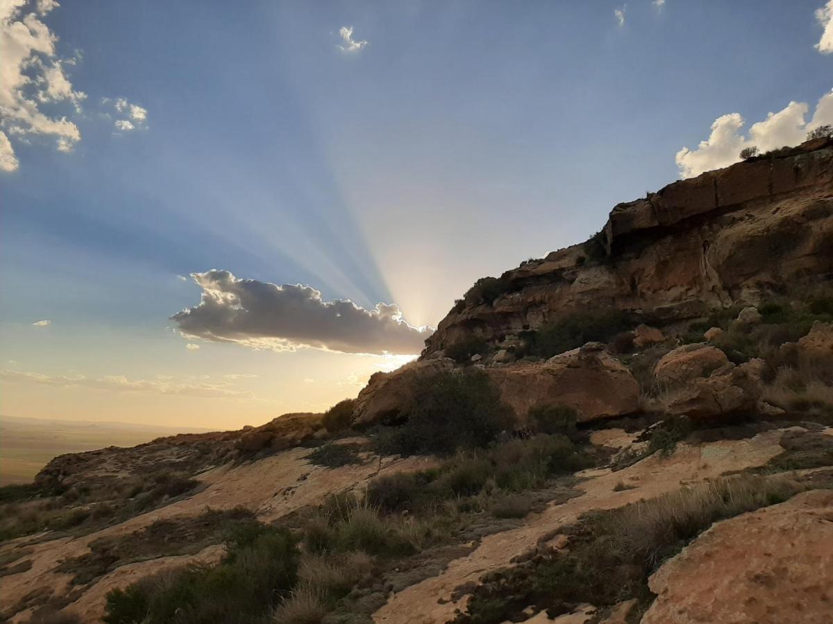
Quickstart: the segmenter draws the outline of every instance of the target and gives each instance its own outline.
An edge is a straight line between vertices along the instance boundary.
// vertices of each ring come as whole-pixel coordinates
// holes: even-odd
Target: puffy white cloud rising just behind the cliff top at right
[[[807,132],[824,124],[833,124],[833,92],[826,93],[816,105],[811,121],[805,118],[810,107],[805,102],[790,102],[778,112],[771,112],[763,121],[754,123],[744,136],[744,119],[733,112],[718,117],[711,124],[711,134],[694,150],[683,147],[676,153],[676,164],[684,178],[699,176],[704,171],[720,169],[740,161],[746,147],[756,146],[761,152],[804,141]]]

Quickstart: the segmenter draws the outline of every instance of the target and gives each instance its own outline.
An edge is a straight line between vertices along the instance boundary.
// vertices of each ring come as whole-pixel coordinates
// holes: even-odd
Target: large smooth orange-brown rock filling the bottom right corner
[[[718,522],[649,580],[642,624],[828,624],[833,604],[833,492]]]

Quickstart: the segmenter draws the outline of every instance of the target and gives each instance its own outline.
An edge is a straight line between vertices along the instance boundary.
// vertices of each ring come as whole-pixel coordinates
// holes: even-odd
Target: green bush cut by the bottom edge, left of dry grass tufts
[[[297,581],[297,539],[260,525],[228,544],[214,566],[194,565],[146,577],[107,594],[108,624],[252,622]]]

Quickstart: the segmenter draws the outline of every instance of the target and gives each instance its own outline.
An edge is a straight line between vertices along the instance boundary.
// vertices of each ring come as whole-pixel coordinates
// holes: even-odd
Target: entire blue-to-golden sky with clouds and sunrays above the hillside
[[[833,0],[0,0],[0,413],[322,411],[831,88]]]

